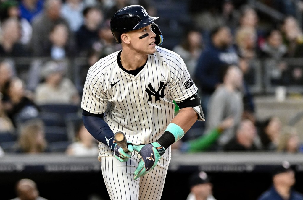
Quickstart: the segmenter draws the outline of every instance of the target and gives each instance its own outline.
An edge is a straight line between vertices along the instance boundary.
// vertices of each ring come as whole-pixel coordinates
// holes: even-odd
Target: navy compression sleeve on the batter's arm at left
[[[95,139],[112,148],[114,133],[103,120],[103,115],[104,113],[93,114],[83,110],[82,120],[85,128]]]

